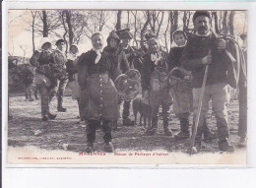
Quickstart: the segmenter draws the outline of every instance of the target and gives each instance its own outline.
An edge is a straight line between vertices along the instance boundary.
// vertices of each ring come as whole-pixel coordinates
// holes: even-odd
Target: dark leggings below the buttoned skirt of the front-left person
[[[96,141],[96,128],[100,127],[100,121],[89,120],[87,125],[87,142],[93,144]],[[103,140],[109,143],[112,140],[111,125],[109,120],[102,120]]]

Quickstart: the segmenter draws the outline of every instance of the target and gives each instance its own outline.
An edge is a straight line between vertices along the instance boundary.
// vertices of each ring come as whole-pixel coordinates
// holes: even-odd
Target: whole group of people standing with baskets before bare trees
[[[233,42],[211,30],[210,17],[208,11],[197,11],[193,16],[195,32],[187,37],[184,31],[174,31],[175,45],[168,53],[161,49],[158,37],[151,32],[145,36],[147,42],[141,48],[130,46],[133,35],[129,30],[111,31],[104,48],[102,34],[95,32],[92,35],[93,49],[80,56],[76,45],[71,45],[66,55],[63,39],[56,41],[53,50],[51,41],[43,38],[40,49],[34,51],[30,60],[34,67],[33,84],[41,98],[42,121],[56,118],[49,111],[49,103],[55,95],[57,110],[67,111],[62,103],[69,82],[72,97],[78,101],[81,121],[87,125],[87,153],[94,151],[99,127],[103,131],[104,151],[113,152],[111,132],[120,128],[117,120],[121,104],[122,126],[134,126],[139,112],[141,120],[145,118],[145,134],[149,136],[156,134],[158,129],[160,106],[164,134],[172,136],[168,127],[172,105],[180,121],[180,132],[174,136],[177,140],[190,138],[189,116],[192,113],[191,132],[196,134],[194,147],[197,153],[201,150],[202,138],[213,140],[217,137],[220,150],[232,152],[234,147],[228,141],[226,108],[230,96],[228,89],[232,87],[239,91],[239,146],[245,147],[246,63],[241,61],[239,69],[234,69],[239,56],[237,51],[234,55]],[[241,38],[246,46],[247,35],[242,34]],[[246,48],[242,50],[239,55],[246,56]],[[200,97],[202,91],[204,95]],[[210,100],[217,119],[218,136],[207,124]],[[131,106],[135,121],[130,119]],[[194,126],[196,123],[198,126]]]

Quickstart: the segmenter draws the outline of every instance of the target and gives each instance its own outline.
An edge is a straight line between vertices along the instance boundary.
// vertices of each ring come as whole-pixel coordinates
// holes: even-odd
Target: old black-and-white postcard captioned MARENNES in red
[[[7,164],[247,164],[248,10],[142,8],[7,10]]]

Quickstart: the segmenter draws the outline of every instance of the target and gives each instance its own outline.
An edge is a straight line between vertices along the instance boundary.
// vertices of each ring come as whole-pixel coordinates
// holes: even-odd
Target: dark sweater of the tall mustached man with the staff
[[[213,62],[209,65],[206,85],[214,85],[227,82],[228,64],[231,63],[224,53],[217,47],[218,39],[211,33],[209,36],[202,37],[194,35],[187,41],[182,54],[182,66],[192,72],[193,88],[201,88],[205,73],[205,65],[202,59],[212,50]]]

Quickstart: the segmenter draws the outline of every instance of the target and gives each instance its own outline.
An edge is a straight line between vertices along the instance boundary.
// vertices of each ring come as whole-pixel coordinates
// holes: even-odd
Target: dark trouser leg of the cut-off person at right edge
[[[239,102],[239,121],[238,136],[245,138],[247,132],[247,87],[245,83],[239,84],[238,102]]]

